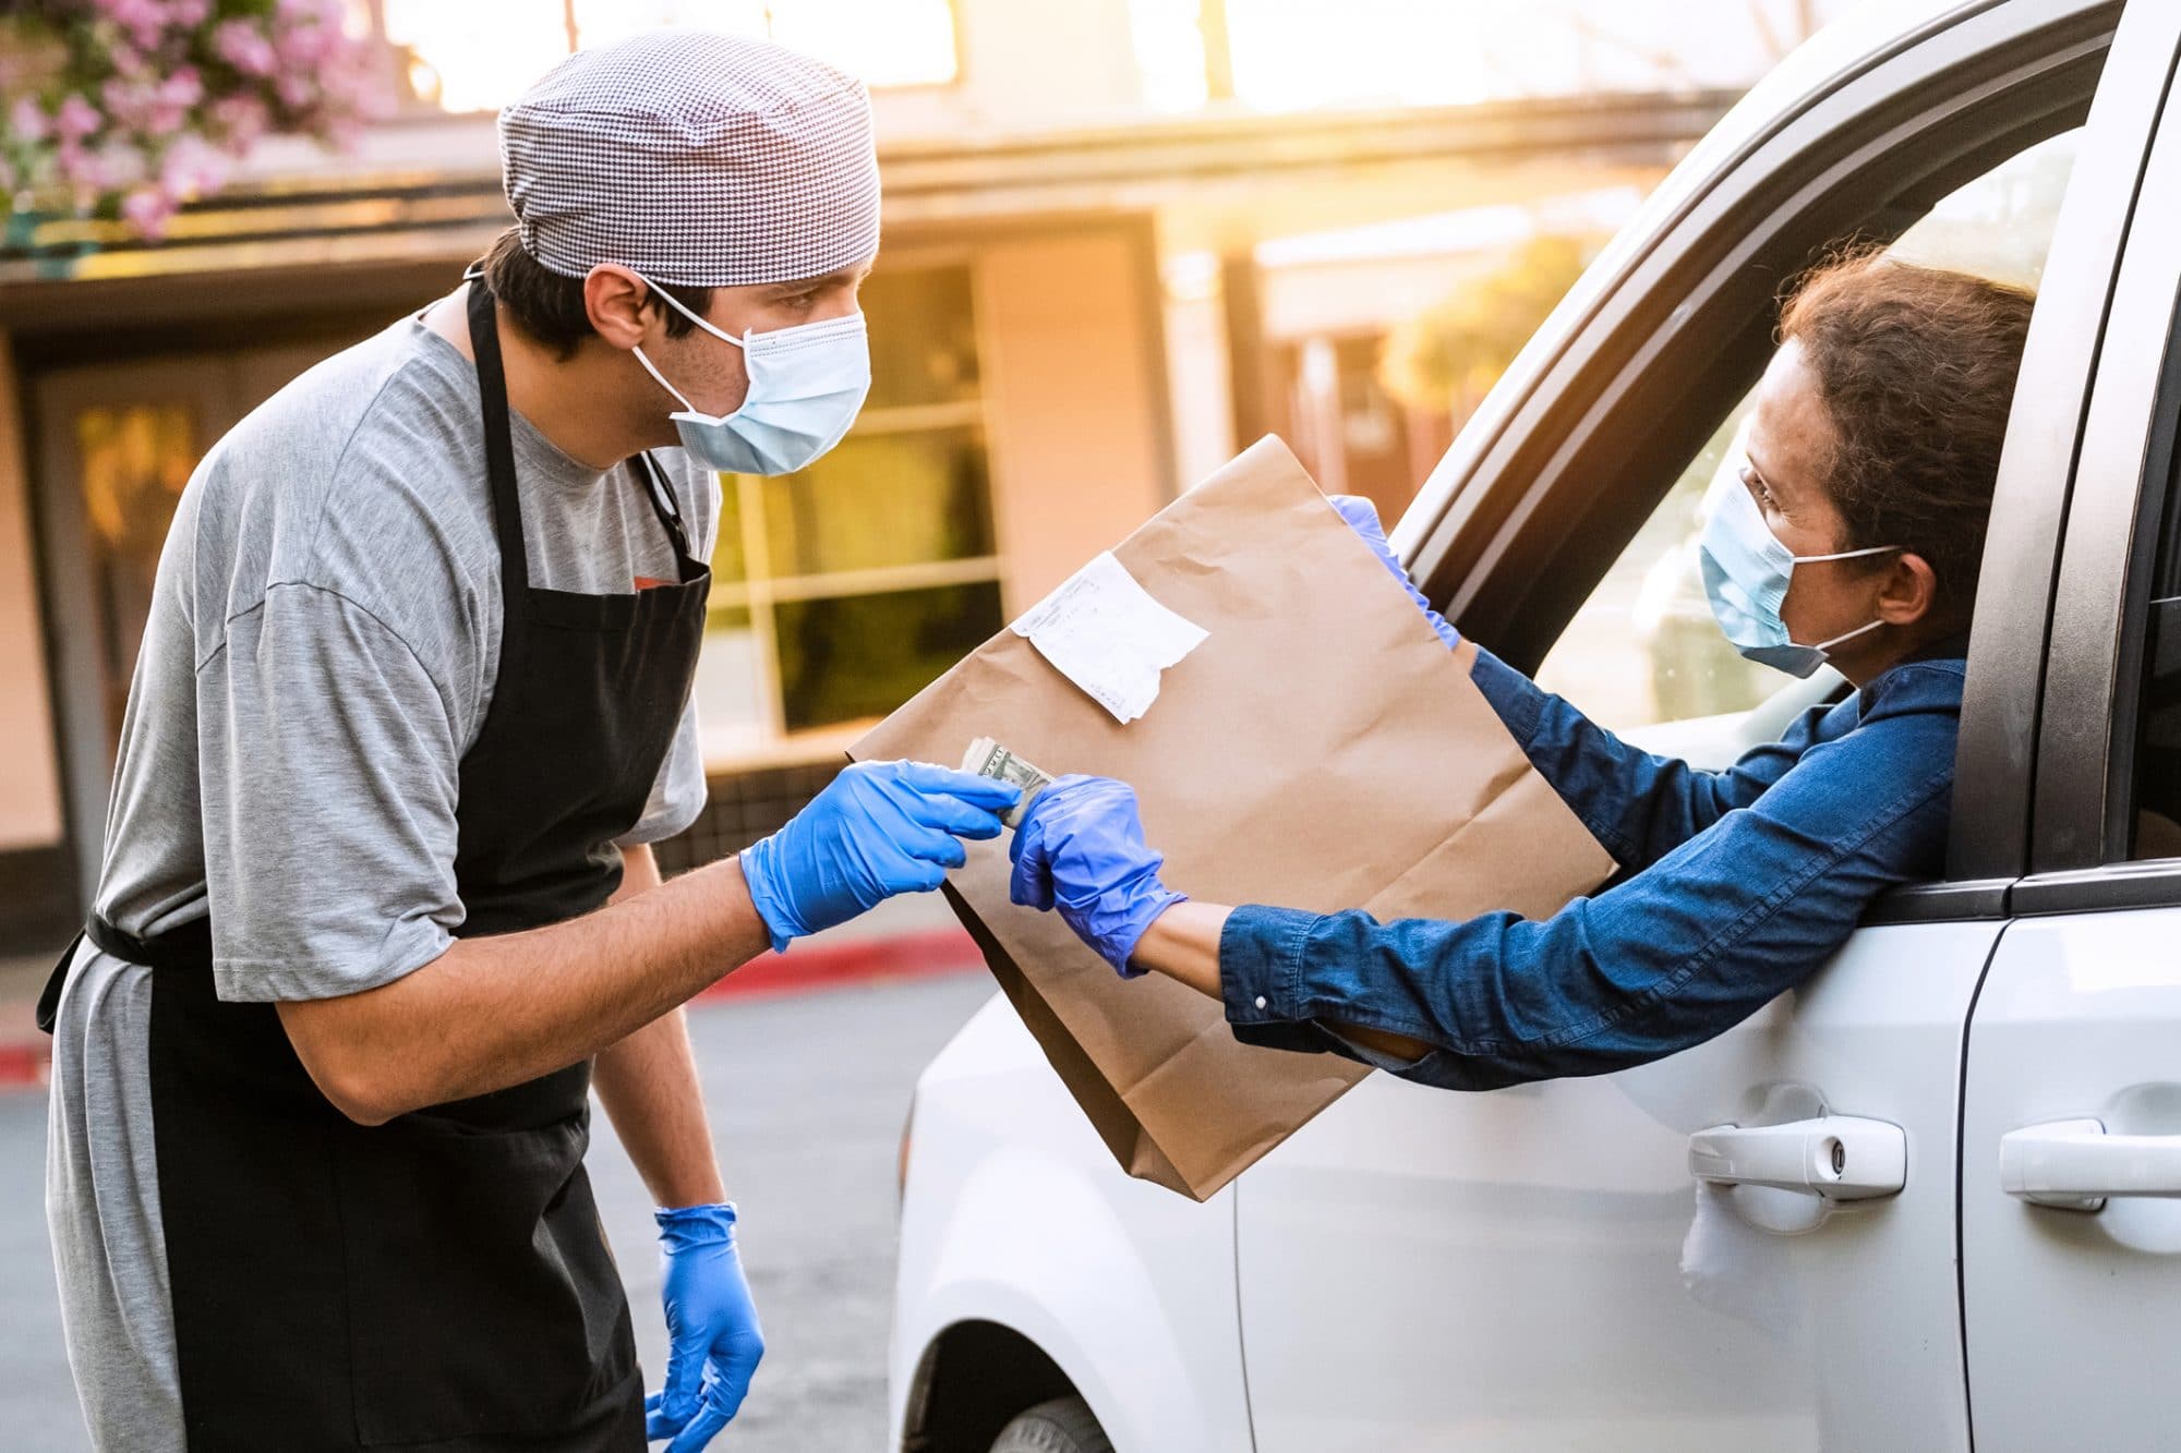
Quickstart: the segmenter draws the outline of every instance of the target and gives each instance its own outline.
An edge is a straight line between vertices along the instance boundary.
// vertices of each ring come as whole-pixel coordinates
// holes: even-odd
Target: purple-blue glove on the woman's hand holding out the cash
[[[1025,908],[1058,908],[1123,980],[1143,973],[1128,966],[1143,929],[1189,897],[1158,881],[1167,860],[1143,842],[1136,792],[1110,777],[1071,774],[1038,792],[1008,857],[1008,897]]]

